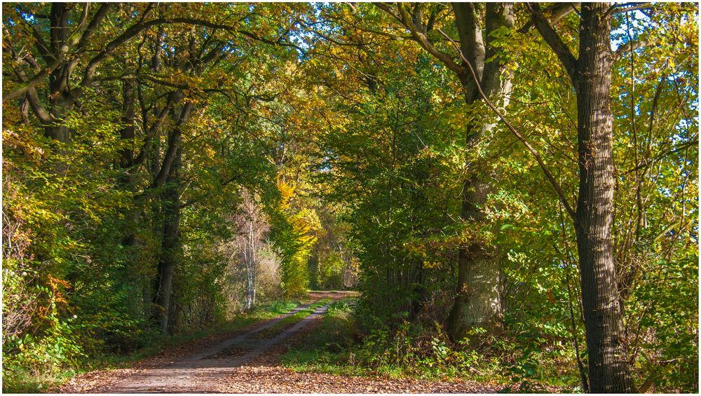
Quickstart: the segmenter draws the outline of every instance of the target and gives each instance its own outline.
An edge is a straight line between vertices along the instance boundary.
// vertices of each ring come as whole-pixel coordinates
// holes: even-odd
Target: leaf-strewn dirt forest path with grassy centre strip
[[[73,378],[60,392],[90,393],[384,393],[496,392],[499,387],[468,382],[346,377],[296,373],[278,363],[287,345],[311,332],[330,303],[344,292],[312,292],[312,303],[273,320],[257,322],[225,339],[199,345],[194,352],[165,351],[128,369],[93,371]],[[313,313],[288,325],[285,318],[306,308]],[[278,325],[280,324],[280,325]],[[277,327],[275,325],[278,325]],[[282,341],[287,341],[283,343]]]

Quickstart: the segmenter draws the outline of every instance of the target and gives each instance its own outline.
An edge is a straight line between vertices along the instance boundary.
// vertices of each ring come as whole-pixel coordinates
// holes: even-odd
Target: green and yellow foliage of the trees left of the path
[[[81,16],[81,7],[71,4],[4,4],[4,40],[18,44],[13,50],[20,56],[46,60],[35,46],[36,37],[48,42],[51,32],[62,29],[50,24],[61,21],[28,15],[54,15],[52,7],[62,8],[72,25]],[[302,7],[281,6],[274,18],[293,18],[297,8]],[[158,27],[151,32],[135,27],[150,8],[105,10],[104,20],[96,19],[92,35],[86,34],[89,42],[82,47],[75,46],[77,41],[65,43],[74,55],[55,69],[64,77],[51,76],[32,88],[39,97],[36,107],[26,108],[25,114],[15,105],[25,95],[4,104],[3,369],[4,384],[11,389],[22,389],[21,383],[39,373],[68,372],[84,359],[131,353],[153,342],[154,317],[163,309],[154,295],[162,292],[158,266],[164,259],[177,262],[168,285],[173,291],[170,332],[191,333],[226,320],[227,258],[218,250],[233,231],[226,218],[236,211],[242,189],[256,191],[268,205],[279,200],[279,192],[268,188],[278,173],[271,160],[276,136],[266,123],[271,109],[259,104],[280,87],[287,89],[283,81],[280,86],[267,81],[275,69],[296,59],[294,50],[271,46],[259,51],[241,36],[233,44],[236,54],[229,53],[218,34],[170,24],[161,24],[163,44],[158,45],[153,40]],[[86,11],[92,19],[97,8]],[[200,15],[216,22],[249,11],[243,4],[192,5],[163,6],[158,13]],[[245,18],[248,34],[277,34],[268,10],[258,12]],[[107,57],[95,63],[100,78],[81,80],[94,55],[86,54],[106,48],[125,31],[136,36],[110,47]],[[73,37],[82,34],[76,31]],[[163,53],[163,46],[172,51]],[[59,47],[53,50],[64,50]],[[196,47],[217,66],[200,69],[209,62],[201,59],[195,62],[198,70],[186,70],[182,65],[191,64]],[[20,72],[24,66],[11,52],[4,52],[4,64]],[[161,56],[159,67],[152,63],[156,56]],[[122,71],[144,76],[146,69],[150,79],[121,78]],[[7,77],[4,90],[18,88],[16,75]],[[212,87],[217,93],[205,92]],[[233,93],[239,89],[247,94]],[[251,102],[249,95],[259,99]],[[64,97],[71,97],[70,103],[62,102]],[[193,110],[183,117],[188,102]],[[43,121],[42,109],[55,119]],[[48,137],[56,137],[52,130],[57,129],[67,133],[64,142]],[[175,138],[175,130],[182,139]],[[178,165],[168,165],[168,170],[164,159],[176,146],[173,163]],[[170,172],[165,182],[158,182],[161,171]],[[164,228],[173,224],[172,196],[181,208],[175,246],[166,251]]]

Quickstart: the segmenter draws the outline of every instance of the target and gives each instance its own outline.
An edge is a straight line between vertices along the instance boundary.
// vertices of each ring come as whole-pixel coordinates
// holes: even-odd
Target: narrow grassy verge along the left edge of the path
[[[105,353],[85,357],[74,362],[72,367],[64,367],[55,372],[32,372],[28,369],[13,369],[13,371],[4,372],[2,390],[4,393],[55,391],[57,387],[79,374],[99,369],[128,367],[133,362],[157,355],[163,350],[186,346],[188,343],[218,334],[233,333],[252,325],[254,322],[275,318],[303,303],[306,303],[306,301],[275,301],[260,306],[253,312],[236,315],[232,320],[207,329],[196,329],[168,336],[151,335],[148,339],[143,340],[145,345],[143,348],[138,348],[126,354]]]

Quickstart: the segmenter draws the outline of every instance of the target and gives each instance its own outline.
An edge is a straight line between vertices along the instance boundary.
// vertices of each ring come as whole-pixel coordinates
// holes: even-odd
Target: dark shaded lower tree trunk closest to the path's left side
[[[163,191],[163,243],[161,259],[158,261],[158,276],[156,278],[156,321],[164,334],[168,332],[170,297],[172,296],[172,280],[175,267],[181,257],[180,245],[180,198],[179,173],[181,165],[181,149],[178,147],[175,161],[170,167],[170,174],[165,182]]]

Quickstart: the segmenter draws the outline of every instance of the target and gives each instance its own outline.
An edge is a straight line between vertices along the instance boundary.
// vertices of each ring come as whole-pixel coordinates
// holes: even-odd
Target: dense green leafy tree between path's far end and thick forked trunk
[[[440,116],[454,102],[432,97],[442,93],[440,74],[430,74],[430,63],[420,58],[410,73],[397,74],[393,48],[386,50],[386,84],[376,92],[358,86],[357,102],[336,105],[349,119],[323,136],[318,179],[351,224],[361,304],[391,320],[402,310],[415,315],[421,301],[446,297],[458,243],[453,235],[463,229],[451,227],[459,210],[451,196],[460,191],[456,161],[464,151],[461,132]]]

